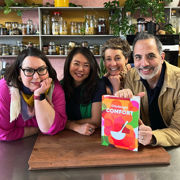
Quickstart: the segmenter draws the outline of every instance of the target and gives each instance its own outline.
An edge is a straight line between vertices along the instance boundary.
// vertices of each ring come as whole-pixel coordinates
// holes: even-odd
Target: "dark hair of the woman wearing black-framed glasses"
[[[49,77],[51,77],[53,80],[57,79],[56,71],[50,64],[48,58],[39,49],[30,47],[19,53],[14,63],[7,68],[4,77],[9,86],[14,86],[18,89],[21,89],[22,82],[19,80],[18,77],[20,67],[22,66],[22,63],[27,56],[35,56],[42,59],[48,67]]]

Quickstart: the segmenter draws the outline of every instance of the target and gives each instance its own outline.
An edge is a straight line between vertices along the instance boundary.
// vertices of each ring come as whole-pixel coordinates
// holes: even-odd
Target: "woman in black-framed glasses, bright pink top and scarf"
[[[22,51],[0,80],[0,140],[12,141],[39,131],[54,135],[67,116],[56,71],[38,49]]]

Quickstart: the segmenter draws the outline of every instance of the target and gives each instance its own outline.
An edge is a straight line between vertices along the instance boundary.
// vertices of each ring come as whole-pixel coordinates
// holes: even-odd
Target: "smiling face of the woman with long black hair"
[[[75,54],[69,69],[70,75],[74,79],[75,86],[79,86],[89,76],[90,64],[81,53]]]

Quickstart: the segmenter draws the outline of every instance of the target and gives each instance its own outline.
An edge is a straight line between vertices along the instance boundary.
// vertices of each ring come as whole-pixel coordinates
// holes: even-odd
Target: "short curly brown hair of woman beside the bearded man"
[[[131,48],[127,40],[123,40],[120,37],[109,39],[105,42],[102,49],[102,57],[105,59],[105,51],[107,49],[120,49],[125,58],[129,58],[131,54]]]

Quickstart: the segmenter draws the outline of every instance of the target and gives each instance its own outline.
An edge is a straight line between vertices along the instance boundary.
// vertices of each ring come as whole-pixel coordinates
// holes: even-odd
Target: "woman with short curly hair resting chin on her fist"
[[[112,38],[106,41],[102,49],[102,58],[107,73],[103,80],[106,84],[106,93],[115,94],[116,91],[124,87],[124,80],[131,65],[128,58],[131,49],[126,40]]]

